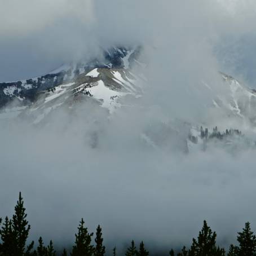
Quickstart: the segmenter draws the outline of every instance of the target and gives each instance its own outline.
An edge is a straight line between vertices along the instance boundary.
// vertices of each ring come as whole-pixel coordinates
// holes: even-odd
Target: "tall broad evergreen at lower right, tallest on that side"
[[[224,249],[217,248],[216,246],[216,233],[212,232],[208,224],[204,220],[199,235],[193,239],[191,249],[188,251],[189,256],[223,256]]]

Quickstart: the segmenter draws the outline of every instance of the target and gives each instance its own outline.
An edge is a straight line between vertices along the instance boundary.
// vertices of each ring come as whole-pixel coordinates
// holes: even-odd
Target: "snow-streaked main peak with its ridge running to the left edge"
[[[136,81],[143,78],[130,69],[140,65],[139,52],[140,47],[113,47],[104,51],[101,59],[65,64],[28,80],[0,83],[0,118],[26,112],[36,124],[61,105],[72,106],[88,98],[113,112],[121,96],[142,93]]]

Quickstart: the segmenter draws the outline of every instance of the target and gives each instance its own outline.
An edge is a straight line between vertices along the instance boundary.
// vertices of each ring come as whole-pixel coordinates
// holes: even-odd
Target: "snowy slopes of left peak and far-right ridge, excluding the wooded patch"
[[[67,101],[67,95],[83,93],[86,96],[92,95],[99,102],[103,100],[101,104],[113,111],[113,103],[121,95],[143,94],[142,88],[136,86],[136,80],[140,78],[130,71],[132,65],[139,64],[139,54],[140,47],[112,47],[104,51],[102,59],[64,64],[45,76],[0,83],[0,108],[4,109],[12,101],[15,101],[15,107],[19,103],[19,107],[35,108],[34,106],[41,104],[38,108],[42,108],[43,105],[60,100],[63,104]],[[226,87],[224,93],[214,90],[213,85],[204,82],[196,90],[200,90],[202,96],[208,95],[208,106],[211,108],[221,110],[227,117],[246,119],[256,125],[256,92],[224,73],[220,73],[220,76]],[[47,98],[47,94],[53,95]],[[43,101],[44,97],[47,100]]]

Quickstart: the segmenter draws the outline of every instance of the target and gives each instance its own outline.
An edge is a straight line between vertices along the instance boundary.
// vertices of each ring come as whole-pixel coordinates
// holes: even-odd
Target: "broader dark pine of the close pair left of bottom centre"
[[[76,234],[76,241],[70,254],[71,256],[91,256],[94,253],[94,248],[91,245],[93,233],[89,233],[84,224],[85,222],[82,219],[78,226],[78,233]]]

